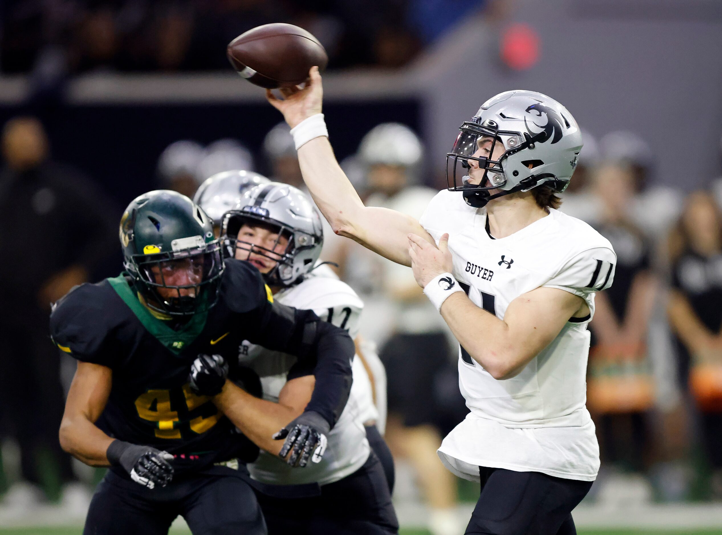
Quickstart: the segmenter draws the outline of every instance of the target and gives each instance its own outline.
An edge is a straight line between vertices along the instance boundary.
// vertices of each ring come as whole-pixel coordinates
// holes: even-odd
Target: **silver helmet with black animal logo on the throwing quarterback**
[[[506,91],[490,98],[459,131],[446,155],[447,186],[463,191],[466,204],[476,208],[544,183],[561,193],[582,148],[579,126],[567,108],[534,91]],[[492,139],[490,155],[497,143],[503,144],[498,160],[474,156],[482,138]],[[484,170],[479,184],[469,183],[469,160],[479,162]],[[490,190],[501,191],[492,195]]]

